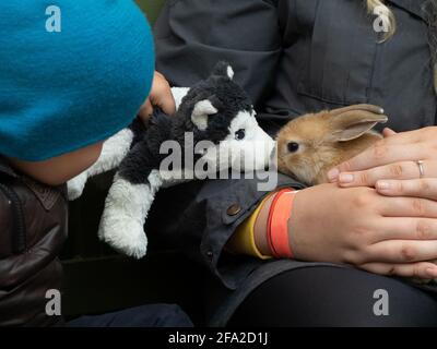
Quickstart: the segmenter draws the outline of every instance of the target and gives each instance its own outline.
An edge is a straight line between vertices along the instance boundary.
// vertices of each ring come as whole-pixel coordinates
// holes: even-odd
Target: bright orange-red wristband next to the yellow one
[[[288,238],[288,220],[292,215],[295,191],[281,190],[270,207],[268,220],[268,242],[276,258],[293,258]]]

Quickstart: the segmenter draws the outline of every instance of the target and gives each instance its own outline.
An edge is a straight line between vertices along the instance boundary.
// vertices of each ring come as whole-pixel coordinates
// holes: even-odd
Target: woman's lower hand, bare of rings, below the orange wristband
[[[392,193],[397,196],[399,189]],[[437,260],[436,217],[437,202],[432,200],[388,197],[364,186],[316,185],[296,194],[288,226],[292,251],[302,261],[436,278],[437,266],[426,262]]]

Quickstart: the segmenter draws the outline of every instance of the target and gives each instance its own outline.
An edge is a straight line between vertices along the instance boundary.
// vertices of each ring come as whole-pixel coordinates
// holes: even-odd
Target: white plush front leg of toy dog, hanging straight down
[[[141,258],[147,250],[144,222],[162,185],[157,170],[149,176],[150,184],[132,184],[118,176],[105,202],[98,237],[115,250]]]

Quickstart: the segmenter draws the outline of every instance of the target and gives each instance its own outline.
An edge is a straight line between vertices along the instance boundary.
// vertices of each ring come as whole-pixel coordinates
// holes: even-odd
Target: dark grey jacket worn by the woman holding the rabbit
[[[169,0],[155,26],[157,70],[173,85],[189,86],[216,61],[229,61],[271,132],[306,112],[362,103],[382,106],[395,131],[434,125],[424,1],[389,2],[398,31],[378,44],[375,16],[367,14],[364,0]],[[224,324],[267,278],[312,265],[262,262],[224,250],[265,195],[256,185],[256,180],[178,185],[158,196],[150,219],[224,286],[213,325]],[[277,185],[302,188],[284,176]]]

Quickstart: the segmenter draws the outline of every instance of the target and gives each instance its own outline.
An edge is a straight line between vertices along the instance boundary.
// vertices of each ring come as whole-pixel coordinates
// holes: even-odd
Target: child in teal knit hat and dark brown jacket
[[[63,183],[90,167],[141,106],[142,112],[160,100],[174,106],[161,75],[144,103],[153,40],[130,0],[2,1],[0,62],[0,326],[60,325],[62,316],[46,308],[47,294],[61,287]],[[189,323],[175,308],[164,308],[157,321],[160,309],[109,317],[118,325],[135,316],[141,325]],[[86,323],[103,324],[76,325]]]

